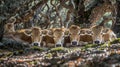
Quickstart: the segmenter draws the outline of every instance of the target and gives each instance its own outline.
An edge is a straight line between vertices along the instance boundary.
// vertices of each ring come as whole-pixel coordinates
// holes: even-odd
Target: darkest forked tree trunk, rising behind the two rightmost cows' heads
[[[88,11],[85,11],[84,0],[82,1],[77,0],[75,1],[75,4],[77,6],[76,7],[77,13],[75,13],[74,22],[77,24],[89,23],[88,19],[93,8],[91,8]]]

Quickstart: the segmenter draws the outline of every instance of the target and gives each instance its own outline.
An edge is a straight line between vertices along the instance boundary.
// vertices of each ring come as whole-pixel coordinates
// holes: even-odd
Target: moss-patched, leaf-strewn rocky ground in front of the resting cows
[[[40,48],[4,39],[0,67],[120,67],[120,39],[106,44]]]

